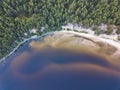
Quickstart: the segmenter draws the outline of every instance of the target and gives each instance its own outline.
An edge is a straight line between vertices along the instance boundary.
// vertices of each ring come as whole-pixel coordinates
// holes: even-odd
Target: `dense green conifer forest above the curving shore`
[[[120,0],[0,0],[0,58],[30,29],[60,30],[69,22],[116,25],[120,33]]]

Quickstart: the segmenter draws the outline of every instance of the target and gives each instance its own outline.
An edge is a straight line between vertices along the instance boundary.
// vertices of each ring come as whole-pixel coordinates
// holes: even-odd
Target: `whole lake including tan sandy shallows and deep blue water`
[[[33,40],[0,72],[0,89],[119,90],[120,48],[115,45],[67,31]]]

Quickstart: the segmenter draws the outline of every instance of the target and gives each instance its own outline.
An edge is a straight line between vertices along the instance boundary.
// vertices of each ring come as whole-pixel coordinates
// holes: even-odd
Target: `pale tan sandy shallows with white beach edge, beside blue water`
[[[30,47],[34,49],[47,47],[69,48],[78,51],[79,49],[86,49],[85,51],[90,50],[120,61],[120,43],[74,31],[54,32],[52,35],[41,39],[40,42],[31,42]]]

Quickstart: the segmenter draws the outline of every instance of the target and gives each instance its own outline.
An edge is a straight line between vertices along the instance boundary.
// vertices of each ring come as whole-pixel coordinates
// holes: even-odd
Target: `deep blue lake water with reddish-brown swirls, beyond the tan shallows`
[[[0,90],[120,90],[120,69],[105,57],[28,44],[0,64]]]

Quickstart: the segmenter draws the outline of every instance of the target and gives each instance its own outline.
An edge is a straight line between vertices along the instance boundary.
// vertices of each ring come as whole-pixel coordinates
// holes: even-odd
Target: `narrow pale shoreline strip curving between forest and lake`
[[[46,35],[54,34],[55,32],[63,32],[63,33],[69,32],[69,33],[78,34],[78,35],[80,35],[80,36],[82,36],[82,37],[93,38],[93,39],[95,38],[96,40],[100,40],[100,41],[102,41],[102,42],[108,43],[108,44],[110,44],[110,45],[112,45],[112,46],[115,46],[115,47],[117,47],[118,49],[120,49],[120,42],[117,42],[117,41],[114,41],[114,40],[111,40],[111,39],[102,38],[102,37],[99,37],[99,36],[96,36],[96,35],[91,35],[91,34],[85,34],[85,33],[75,32],[75,31],[73,31],[73,30],[71,30],[71,31],[67,31],[67,30],[51,31],[51,32],[47,32],[47,33],[45,33],[45,34],[42,34],[41,36],[34,35],[34,36],[36,36],[36,37],[31,36],[30,38],[24,39],[24,40],[23,40],[22,42],[20,42],[20,44],[17,45],[8,55],[6,55],[6,56],[4,56],[3,58],[1,58],[1,59],[0,59],[0,63],[1,63],[1,62],[4,63],[6,58],[8,58],[10,55],[12,55],[12,54],[20,47],[20,45],[26,43],[27,41],[32,40],[32,39],[33,39],[33,40],[34,40],[34,39],[38,39],[38,38],[41,38],[41,37],[46,36]]]

